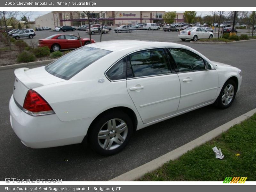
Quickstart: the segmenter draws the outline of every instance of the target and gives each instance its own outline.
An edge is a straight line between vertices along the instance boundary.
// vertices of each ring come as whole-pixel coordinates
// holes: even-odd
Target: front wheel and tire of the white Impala
[[[228,81],[226,81],[226,83],[223,85],[220,91],[220,95],[215,101],[215,105],[221,109],[228,108],[233,103],[236,97],[236,91],[237,86],[235,81],[232,79],[228,79]]]

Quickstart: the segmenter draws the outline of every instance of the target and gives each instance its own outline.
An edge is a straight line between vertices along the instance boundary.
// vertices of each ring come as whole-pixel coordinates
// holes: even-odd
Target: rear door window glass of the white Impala
[[[129,55],[133,77],[163,75],[171,73],[164,49],[149,49]]]

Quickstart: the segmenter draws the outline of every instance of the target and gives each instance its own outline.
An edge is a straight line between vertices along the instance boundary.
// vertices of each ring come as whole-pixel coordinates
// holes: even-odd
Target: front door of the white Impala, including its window
[[[194,52],[181,48],[168,48],[180,78],[180,105],[178,111],[212,102],[216,98],[219,76],[215,69]]]

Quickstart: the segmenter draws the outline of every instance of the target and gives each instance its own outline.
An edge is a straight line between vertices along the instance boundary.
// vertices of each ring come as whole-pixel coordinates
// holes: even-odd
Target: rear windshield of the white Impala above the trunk
[[[68,80],[110,52],[94,47],[80,47],[45,66],[45,70],[54,76]]]

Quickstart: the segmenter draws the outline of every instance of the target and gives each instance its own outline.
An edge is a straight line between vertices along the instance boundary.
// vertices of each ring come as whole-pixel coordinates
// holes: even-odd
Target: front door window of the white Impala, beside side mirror
[[[202,57],[186,49],[168,49],[179,69],[179,72],[204,70],[205,63]]]

